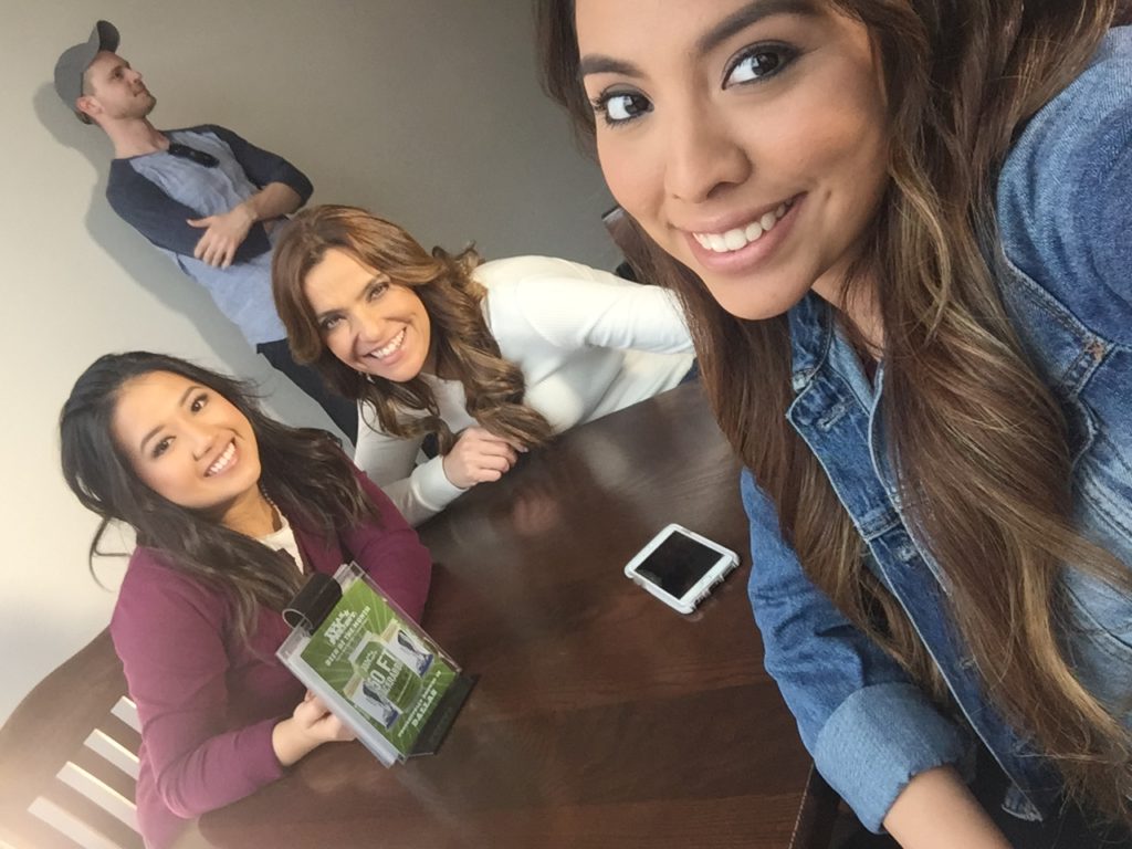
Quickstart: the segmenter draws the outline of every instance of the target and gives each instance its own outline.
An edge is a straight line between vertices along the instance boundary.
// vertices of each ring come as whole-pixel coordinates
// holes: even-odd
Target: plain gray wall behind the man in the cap
[[[105,626],[125,561],[87,573],[95,528],[58,471],[55,422],[108,351],[152,349],[254,377],[277,415],[328,427],[208,298],[103,198],[110,146],[51,87],[97,14],[157,96],[158,127],[222,123],[426,246],[612,267],[597,168],[539,91],[529,0],[2,2],[3,651],[0,720]],[[125,547],[128,540],[121,540]]]

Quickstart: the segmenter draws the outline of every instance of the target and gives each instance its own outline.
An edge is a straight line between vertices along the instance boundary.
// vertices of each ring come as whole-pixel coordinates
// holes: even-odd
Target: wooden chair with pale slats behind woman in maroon
[[[143,849],[142,741],[109,631],[55,669],[0,728],[0,844]]]

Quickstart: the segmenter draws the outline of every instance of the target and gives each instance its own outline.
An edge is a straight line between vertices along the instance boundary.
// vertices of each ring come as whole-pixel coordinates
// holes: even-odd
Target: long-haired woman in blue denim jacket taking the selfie
[[[904,847],[1009,846],[1000,806],[1126,825],[1116,0],[660,6],[544,0],[544,82],[684,299],[818,769]]]

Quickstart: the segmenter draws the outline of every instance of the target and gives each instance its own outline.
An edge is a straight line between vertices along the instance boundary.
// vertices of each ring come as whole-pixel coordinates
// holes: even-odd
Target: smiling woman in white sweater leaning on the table
[[[565,259],[429,254],[355,207],[297,215],[272,276],[295,358],[359,401],[354,460],[413,524],[694,363],[666,290]],[[429,434],[439,453],[418,465]]]

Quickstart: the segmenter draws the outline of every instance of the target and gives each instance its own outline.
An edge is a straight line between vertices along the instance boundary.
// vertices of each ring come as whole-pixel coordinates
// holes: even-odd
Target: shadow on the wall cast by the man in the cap
[[[76,120],[60,103],[50,84],[44,84],[36,91],[33,106],[41,123],[55,140],[85,156],[97,174],[95,185],[91,187],[91,203],[85,215],[86,230],[94,242],[121,266],[126,276],[147,289],[173,312],[187,316],[216,355],[223,362],[230,363],[230,370],[240,377],[255,380],[261,387],[265,397],[284,401],[286,409],[309,403],[309,408],[317,412],[308,415],[305,409],[303,418],[311,419],[312,415],[319,415],[324,422],[320,427],[332,429],[333,424],[317,404],[309,401],[289,380],[278,377],[267,361],[245,342],[235,325],[220,312],[203,286],[185,276],[110,208],[106,201],[106,177],[113,148],[105,134],[96,126],[84,125]],[[78,216],[79,211],[75,209],[74,214]],[[82,281],[77,283],[82,284]],[[189,352],[164,349],[162,353],[186,355]],[[283,418],[291,417],[283,415]]]

